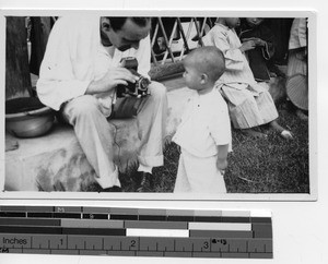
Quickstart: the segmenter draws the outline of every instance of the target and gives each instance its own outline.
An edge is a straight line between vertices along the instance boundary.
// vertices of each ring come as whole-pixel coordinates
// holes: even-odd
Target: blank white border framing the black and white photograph
[[[85,13],[98,15],[115,15],[115,16],[129,16],[129,15],[144,15],[144,16],[241,16],[241,17],[308,17],[308,85],[309,93],[309,193],[227,193],[224,195],[183,195],[171,193],[87,193],[87,192],[15,192],[5,191],[0,193],[1,200],[109,200],[109,201],[316,201],[318,197],[318,171],[317,171],[317,14],[315,11],[281,11],[281,10],[257,10],[257,11],[227,11],[227,10],[211,10],[211,11],[191,11],[191,10],[13,10],[3,9],[0,11],[0,58],[5,61],[5,16],[61,16],[70,13]],[[113,13],[113,14],[110,14]],[[4,73],[5,63],[0,63],[0,85],[4,87]],[[0,92],[1,98],[5,98],[4,88]],[[0,115],[1,115],[1,132],[0,140],[4,142],[4,100],[0,100]],[[4,161],[5,153],[4,146],[0,148],[0,187],[4,187]]]

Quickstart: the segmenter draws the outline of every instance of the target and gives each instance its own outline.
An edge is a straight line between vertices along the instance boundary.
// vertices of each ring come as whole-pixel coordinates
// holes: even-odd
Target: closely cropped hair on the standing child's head
[[[213,82],[218,81],[225,71],[223,52],[215,46],[206,46],[192,50],[186,57],[194,60],[195,68],[209,76]]]

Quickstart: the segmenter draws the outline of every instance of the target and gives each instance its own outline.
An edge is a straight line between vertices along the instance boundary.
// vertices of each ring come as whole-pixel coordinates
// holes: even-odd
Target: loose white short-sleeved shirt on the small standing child
[[[191,96],[173,141],[197,157],[218,154],[216,145],[232,146],[227,106],[220,92],[213,88],[206,95]]]

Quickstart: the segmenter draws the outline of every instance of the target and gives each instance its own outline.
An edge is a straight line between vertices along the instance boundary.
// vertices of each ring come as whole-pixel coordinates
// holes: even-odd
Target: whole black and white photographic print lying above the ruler
[[[316,197],[311,13],[54,13],[4,15],[4,194]]]

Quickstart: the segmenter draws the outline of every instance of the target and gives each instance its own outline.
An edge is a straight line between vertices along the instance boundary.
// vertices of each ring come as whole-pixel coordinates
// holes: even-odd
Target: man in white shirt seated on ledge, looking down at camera
[[[116,87],[136,83],[120,64],[136,57],[138,72],[148,75],[151,45],[150,17],[63,16],[49,36],[40,67],[37,94],[43,104],[60,111],[74,127],[78,141],[96,173],[98,192],[118,192],[114,164],[115,135],[110,116],[137,116],[140,147],[137,191],[148,191],[152,167],[163,165],[166,88],[151,82],[150,95],[116,98]]]

